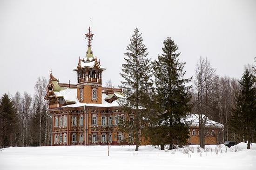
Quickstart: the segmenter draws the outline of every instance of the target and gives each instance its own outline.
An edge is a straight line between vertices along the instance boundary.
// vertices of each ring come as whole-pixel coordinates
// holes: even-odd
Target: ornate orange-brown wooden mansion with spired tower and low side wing
[[[106,68],[93,55],[93,36],[89,27],[86,56],[79,58],[73,69],[77,73],[77,84],[60,83],[52,71],[50,73],[45,100],[48,100],[47,112],[52,115],[52,145],[118,145],[128,138],[119,132],[118,121],[124,115],[132,120],[134,115],[124,113],[118,104],[118,99],[124,97],[121,89],[102,87],[102,73]],[[196,129],[196,125],[191,124],[191,144],[199,144]],[[210,132],[212,135],[206,144],[216,144],[218,129],[211,127],[214,132]]]

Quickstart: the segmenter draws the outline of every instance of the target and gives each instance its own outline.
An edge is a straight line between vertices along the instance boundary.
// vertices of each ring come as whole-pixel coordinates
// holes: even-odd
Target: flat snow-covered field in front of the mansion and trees
[[[0,170],[256,170],[256,144],[251,150],[245,143],[242,151],[216,155],[216,145],[204,152],[184,154],[160,151],[159,148],[140,146],[48,146],[11,147],[0,151]]]

